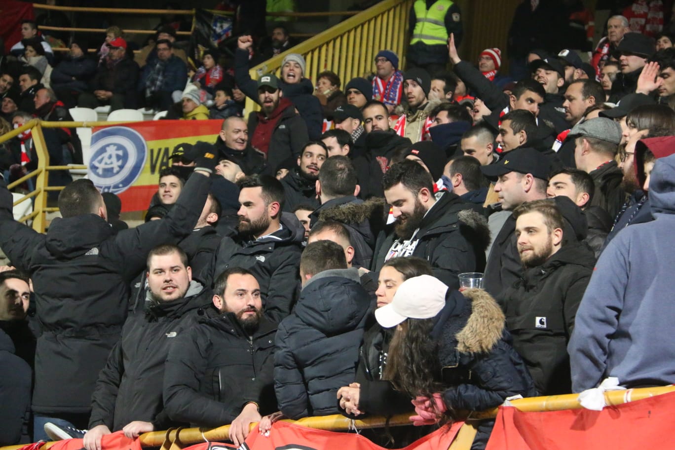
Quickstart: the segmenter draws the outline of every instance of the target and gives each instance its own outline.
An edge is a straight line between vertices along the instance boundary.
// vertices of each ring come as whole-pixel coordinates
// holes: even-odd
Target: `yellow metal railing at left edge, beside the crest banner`
[[[7,185],[9,190],[16,188],[20,184],[28,181],[29,179],[34,179],[35,189],[31,192],[28,192],[25,196],[16,200],[14,206],[30,200],[30,198],[35,198],[33,204],[33,212],[29,215],[21,217],[20,222],[28,222],[32,220],[32,228],[38,233],[44,233],[45,228],[47,227],[47,213],[53,213],[58,211],[59,208],[56,207],[47,207],[47,192],[50,191],[60,191],[63,190],[64,186],[47,186],[47,177],[49,177],[49,171],[53,170],[75,170],[75,169],[86,169],[86,165],[59,165],[53,166],[49,165],[49,152],[47,151],[47,145],[45,144],[45,136],[43,135],[43,128],[81,128],[81,127],[99,127],[103,125],[117,125],[118,123],[128,123],[128,121],[119,121],[119,122],[46,122],[41,121],[40,119],[32,119],[24,123],[16,130],[12,130],[9,133],[5,133],[0,136],[0,144],[3,142],[15,138],[22,132],[26,130],[32,130],[32,138],[35,144],[35,151],[38,157],[37,169],[27,173],[20,179],[11,182]]]

